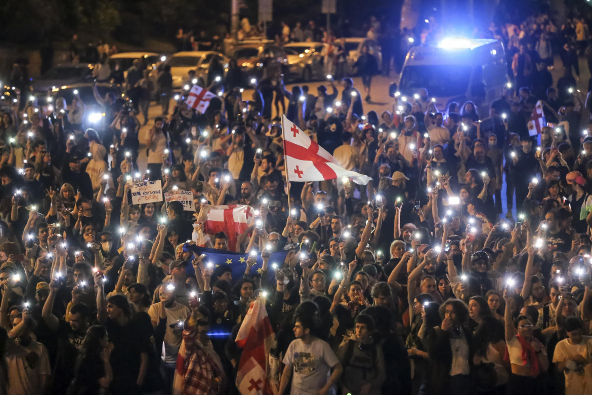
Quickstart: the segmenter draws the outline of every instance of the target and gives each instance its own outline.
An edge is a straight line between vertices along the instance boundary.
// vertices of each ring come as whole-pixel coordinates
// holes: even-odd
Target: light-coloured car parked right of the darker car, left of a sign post
[[[288,58],[288,79],[311,81],[325,78],[323,43],[289,43],[284,50]]]

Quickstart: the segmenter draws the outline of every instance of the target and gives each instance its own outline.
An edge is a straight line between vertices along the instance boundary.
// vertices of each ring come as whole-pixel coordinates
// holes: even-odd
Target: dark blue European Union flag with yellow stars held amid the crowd
[[[216,268],[219,268],[220,266],[229,266],[232,270],[232,278],[234,282],[237,282],[243,278],[244,271],[247,268],[247,259],[249,259],[248,253],[223,251],[213,248],[201,248],[195,245],[187,245],[187,248],[184,246],[184,250],[193,251],[197,256],[201,255],[202,253],[205,254],[204,262],[214,264],[214,273],[216,272]],[[275,270],[272,268],[272,265],[276,264],[278,265],[278,268],[281,267],[282,264],[284,264],[286,255],[288,255],[288,251],[272,252],[271,258],[269,258],[268,262],[268,278],[263,279],[263,282],[275,284]],[[261,254],[258,253],[256,263],[251,268],[250,275],[260,276],[263,272],[262,265],[263,259],[261,258]],[[187,265],[185,272],[188,276],[195,275],[193,265]]]

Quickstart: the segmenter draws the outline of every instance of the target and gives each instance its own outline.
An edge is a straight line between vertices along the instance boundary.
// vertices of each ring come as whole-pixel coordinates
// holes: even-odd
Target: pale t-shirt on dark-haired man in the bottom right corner
[[[570,343],[570,339],[563,339],[555,346],[553,362],[567,362],[565,374],[565,394],[592,394],[592,364],[590,351],[592,350],[592,336],[584,336],[580,344]],[[578,365],[572,361],[575,355],[581,355],[587,360],[583,371],[576,371]]]

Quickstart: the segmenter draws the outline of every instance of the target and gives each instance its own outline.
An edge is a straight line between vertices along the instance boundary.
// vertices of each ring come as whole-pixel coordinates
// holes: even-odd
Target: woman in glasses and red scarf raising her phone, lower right
[[[529,247],[529,255],[534,248]],[[542,372],[549,368],[549,360],[543,343],[532,336],[534,324],[527,316],[512,319],[512,305],[514,291],[511,287],[504,290],[506,300],[506,344],[507,354],[504,360],[511,364],[511,375],[508,381],[507,393],[536,394],[540,393],[540,381],[537,380]]]

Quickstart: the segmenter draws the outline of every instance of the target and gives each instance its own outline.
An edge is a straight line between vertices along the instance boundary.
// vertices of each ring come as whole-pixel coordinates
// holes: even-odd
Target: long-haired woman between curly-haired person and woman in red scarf
[[[475,390],[482,395],[505,394],[509,375],[504,365],[506,342],[503,324],[494,316],[483,317],[473,337],[473,347],[475,349],[473,378],[477,387]],[[486,377],[491,370],[484,364],[493,364],[493,370],[496,373],[495,382],[491,380],[493,375]]]

